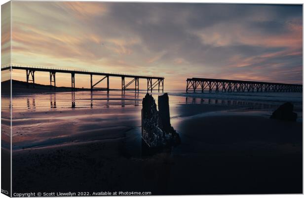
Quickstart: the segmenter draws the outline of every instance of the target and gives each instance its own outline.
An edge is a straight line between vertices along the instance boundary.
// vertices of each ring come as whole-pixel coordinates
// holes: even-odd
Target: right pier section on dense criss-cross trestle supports
[[[189,91],[215,92],[302,92],[302,84],[229,80],[229,79],[187,79],[186,93]]]

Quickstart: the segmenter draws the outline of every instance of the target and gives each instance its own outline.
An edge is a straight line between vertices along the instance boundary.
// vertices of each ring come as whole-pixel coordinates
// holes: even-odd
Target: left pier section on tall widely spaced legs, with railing
[[[27,83],[28,86],[30,83],[33,84],[33,87],[35,87],[35,72],[49,72],[50,74],[50,88],[54,87],[56,88],[56,74],[57,73],[68,73],[71,74],[71,88],[74,91],[76,89],[76,74],[83,74],[83,75],[89,75],[90,76],[90,89],[93,90],[95,88],[98,89],[105,89],[107,91],[110,90],[110,77],[118,77],[121,78],[121,90],[135,90],[139,91],[139,79],[147,79],[147,91],[153,91],[158,90],[164,91],[164,78],[160,76],[151,76],[151,75],[133,75],[133,74],[123,74],[123,73],[104,73],[104,72],[88,72],[85,70],[68,70],[68,69],[54,69],[54,68],[45,68],[45,67],[24,67],[24,66],[7,66],[7,67],[1,67],[1,71],[9,70],[9,69],[16,69],[16,70],[25,70],[27,75]],[[101,76],[101,79],[97,82],[93,82],[93,76]],[[127,83],[125,83],[126,79],[129,79]],[[99,83],[101,83],[103,80],[107,81],[107,87],[97,87]],[[135,84],[134,88],[129,88],[132,83]]]

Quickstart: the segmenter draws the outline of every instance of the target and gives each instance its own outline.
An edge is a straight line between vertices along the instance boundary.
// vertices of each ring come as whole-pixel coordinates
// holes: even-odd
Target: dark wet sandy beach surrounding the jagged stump
[[[182,143],[155,154],[141,140],[144,92],[16,94],[13,192],[302,193],[302,101],[289,122],[269,119],[279,98],[182,94],[169,93]]]

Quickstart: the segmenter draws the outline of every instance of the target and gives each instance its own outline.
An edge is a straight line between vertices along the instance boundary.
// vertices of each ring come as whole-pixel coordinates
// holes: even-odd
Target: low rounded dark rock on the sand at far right
[[[281,119],[288,121],[296,121],[298,115],[293,112],[293,104],[290,102],[286,102],[279,106],[277,110],[275,110],[270,119]]]

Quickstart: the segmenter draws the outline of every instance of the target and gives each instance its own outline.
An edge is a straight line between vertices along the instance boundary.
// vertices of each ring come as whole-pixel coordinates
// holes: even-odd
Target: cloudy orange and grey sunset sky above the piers
[[[302,83],[302,17],[302,5],[13,1],[12,63],[159,75],[166,90],[192,77]],[[89,84],[76,75],[77,87]]]

